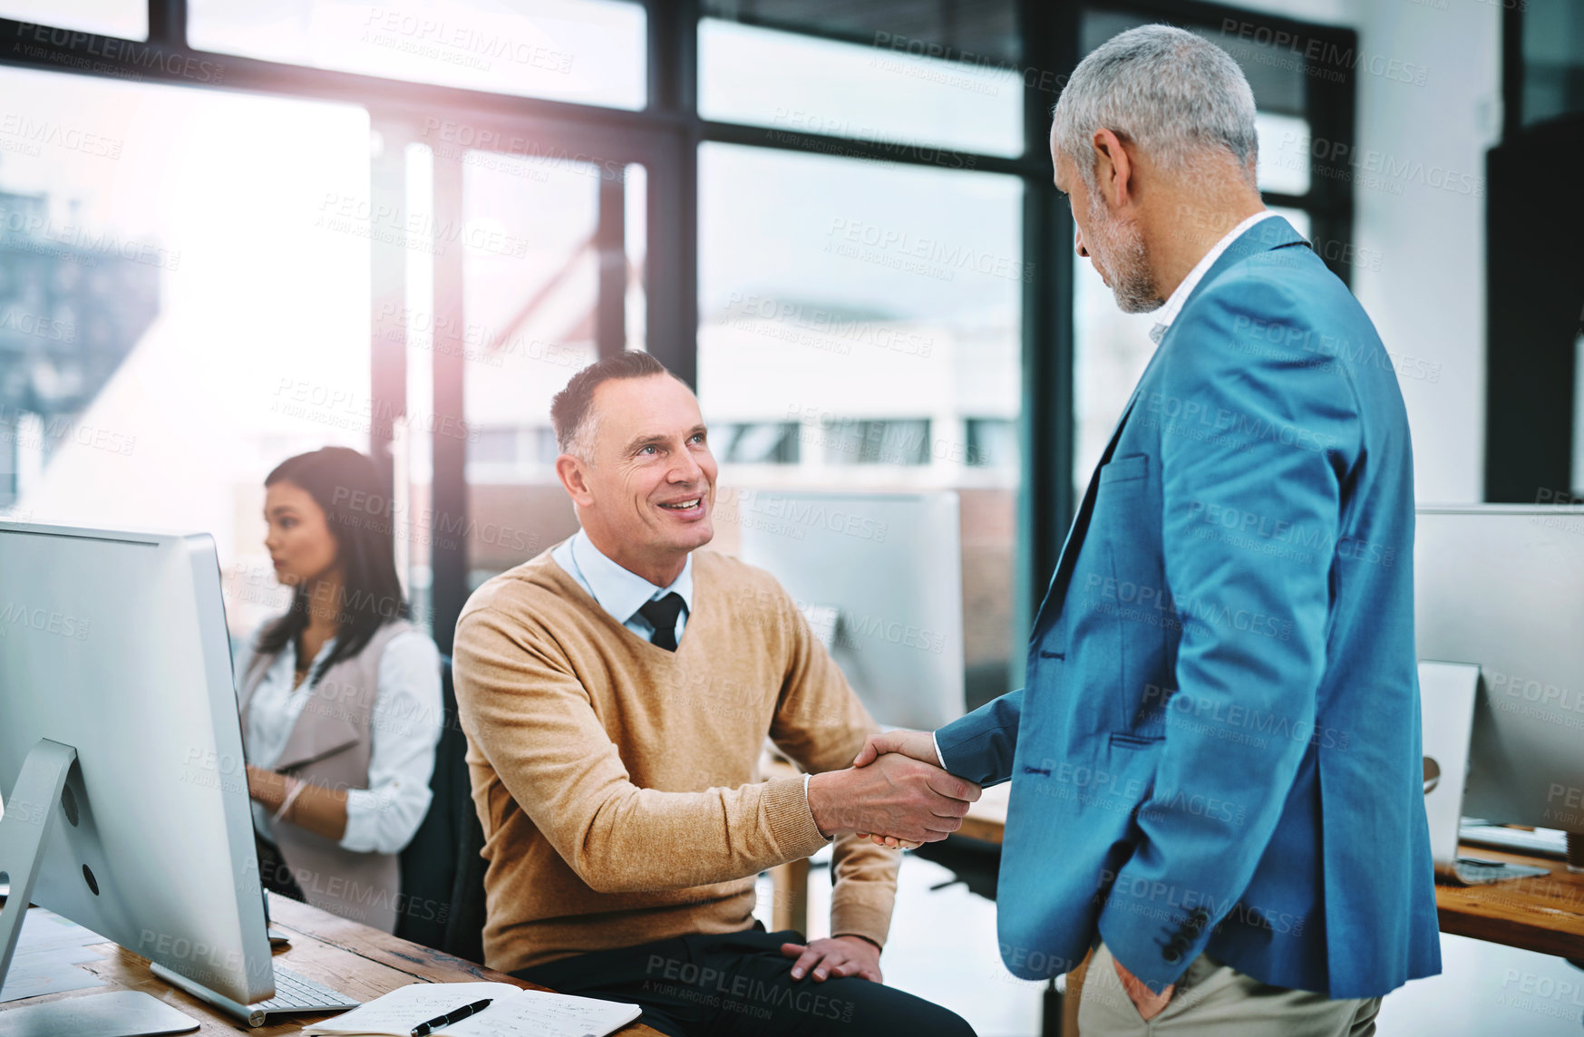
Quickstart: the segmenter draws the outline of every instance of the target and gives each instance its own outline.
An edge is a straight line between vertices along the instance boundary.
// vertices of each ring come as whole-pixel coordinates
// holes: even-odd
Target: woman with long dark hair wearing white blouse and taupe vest
[[[442,724],[440,655],[409,622],[388,500],[345,446],[269,473],[265,546],[291,606],[238,689],[265,887],[386,933]]]

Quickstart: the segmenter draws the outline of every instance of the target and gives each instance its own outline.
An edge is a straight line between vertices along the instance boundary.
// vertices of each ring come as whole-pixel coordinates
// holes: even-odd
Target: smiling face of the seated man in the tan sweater
[[[594,389],[589,458],[556,461],[589,540],[618,565],[667,586],[714,537],[716,462],[699,401],[670,375]]]

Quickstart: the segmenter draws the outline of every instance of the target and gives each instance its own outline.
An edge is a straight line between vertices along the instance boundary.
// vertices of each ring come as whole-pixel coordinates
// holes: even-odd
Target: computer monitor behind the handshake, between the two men
[[[957,494],[748,489],[740,553],[787,589],[852,690],[887,727],[963,716]]]

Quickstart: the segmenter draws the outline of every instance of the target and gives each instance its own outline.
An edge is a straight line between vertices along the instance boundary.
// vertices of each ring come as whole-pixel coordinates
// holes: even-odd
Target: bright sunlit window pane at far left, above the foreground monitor
[[[367,114],[14,68],[0,92],[0,507],[209,532],[242,635],[282,605],[265,475],[393,420]]]

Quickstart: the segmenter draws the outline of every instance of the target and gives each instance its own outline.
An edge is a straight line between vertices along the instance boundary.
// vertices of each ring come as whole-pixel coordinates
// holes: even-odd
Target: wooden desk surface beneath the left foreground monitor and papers
[[[36,909],[35,909],[36,910]],[[317,907],[269,898],[269,925],[291,937],[291,947],[274,955],[274,961],[298,975],[325,983],[356,1001],[372,1001],[415,980],[432,983],[493,982],[512,983],[524,990],[545,990],[524,983],[502,972],[463,961],[437,950],[396,939],[388,933],[371,929],[358,921],[348,921]],[[43,994],[25,1001],[11,1001],[5,1007],[44,1004],[60,997],[82,997],[114,990],[141,990],[165,1004],[184,1012],[201,1026],[198,1034],[255,1034],[276,1037],[295,1034],[309,1023],[331,1018],[329,1015],[295,1015],[287,1023],[252,1029],[233,1020],[196,997],[181,991],[149,972],[149,959],[131,953],[117,944],[100,944],[103,958],[76,966],[106,982],[106,986],[90,986],[60,994]],[[621,1037],[661,1037],[659,1031],[634,1023],[616,1031]]]

